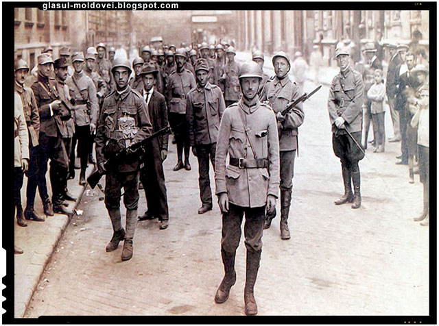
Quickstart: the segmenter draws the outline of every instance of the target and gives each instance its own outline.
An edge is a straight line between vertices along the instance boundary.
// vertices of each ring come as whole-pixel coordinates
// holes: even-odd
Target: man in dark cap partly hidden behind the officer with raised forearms
[[[58,91],[58,95],[60,95],[60,99],[64,101],[64,105],[67,105],[69,110],[71,110],[69,86],[67,86],[66,84],[68,68],[69,63],[67,62],[67,58],[61,57],[55,60],[54,71],[56,79],[56,90]],[[64,124],[64,128],[66,131],[65,134],[62,135],[62,140],[64,141],[64,147],[66,148],[67,158],[70,158],[72,138],[75,134],[75,122],[73,121],[73,118],[70,117],[62,121],[62,123]],[[67,189],[68,170],[64,172],[65,175],[62,175],[62,197],[67,201],[76,201],[78,198],[71,195],[71,193]],[[61,209],[63,210],[63,208]]]

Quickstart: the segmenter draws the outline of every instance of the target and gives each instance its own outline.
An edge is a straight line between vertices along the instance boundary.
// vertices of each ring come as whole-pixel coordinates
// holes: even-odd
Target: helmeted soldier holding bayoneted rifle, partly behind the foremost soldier
[[[276,114],[279,148],[281,150],[281,239],[290,238],[288,229],[289,207],[291,205],[294,158],[298,149],[298,127],[302,125],[305,114],[302,103],[286,116],[281,112],[287,108],[287,104],[296,101],[300,97],[300,86],[292,82],[288,77],[291,61],[288,55],[280,51],[273,56],[274,77],[268,79],[265,84],[263,99],[270,101],[270,105]],[[270,227],[272,219],[276,216],[267,214],[265,229]]]

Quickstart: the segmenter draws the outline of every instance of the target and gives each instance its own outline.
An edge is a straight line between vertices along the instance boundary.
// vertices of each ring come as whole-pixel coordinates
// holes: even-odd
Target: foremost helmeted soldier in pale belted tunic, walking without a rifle
[[[241,238],[241,223],[246,214],[244,236],[247,249],[246,314],[257,314],[254,284],[261,260],[265,209],[276,207],[279,186],[279,143],[276,116],[268,105],[259,102],[257,91],[262,80],[255,62],[241,67],[241,99],[222,116],[215,156],[215,184],[222,212],[221,255],[224,279],[215,294],[224,303],[235,284],[235,254]],[[227,154],[230,162],[226,166]]]

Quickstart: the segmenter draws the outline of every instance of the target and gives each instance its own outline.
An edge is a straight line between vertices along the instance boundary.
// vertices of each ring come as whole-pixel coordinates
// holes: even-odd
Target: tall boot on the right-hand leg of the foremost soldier
[[[244,303],[246,303],[246,315],[251,316],[258,313],[258,306],[254,299],[254,284],[259,270],[261,251],[250,251],[247,249],[246,266],[246,287],[244,288]]]

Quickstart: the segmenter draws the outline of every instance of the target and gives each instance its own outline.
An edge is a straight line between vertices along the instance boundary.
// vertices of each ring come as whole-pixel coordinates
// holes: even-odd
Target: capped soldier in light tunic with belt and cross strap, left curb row
[[[102,49],[99,48],[99,49]],[[70,155],[70,171],[75,168],[75,147],[78,142],[78,156],[81,160],[80,185],[85,185],[85,172],[87,169],[88,155],[93,148],[93,134],[96,129],[97,107],[96,87],[93,80],[88,77],[82,68],[84,66],[84,53],[75,52],[72,55],[75,73],[67,78],[70,97],[73,103],[72,116],[75,121],[75,135],[73,136],[72,151]]]

